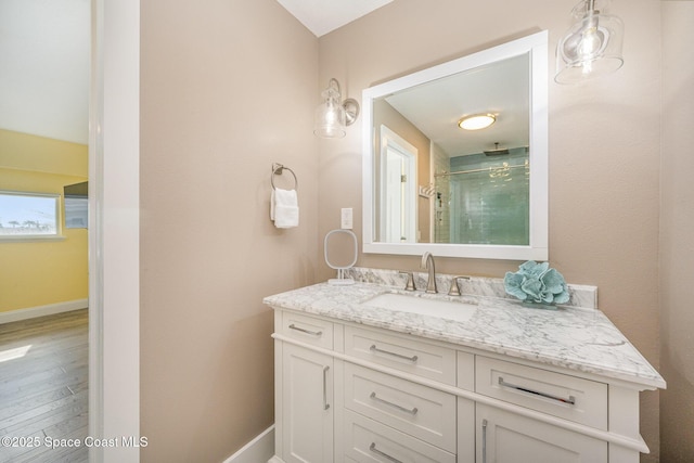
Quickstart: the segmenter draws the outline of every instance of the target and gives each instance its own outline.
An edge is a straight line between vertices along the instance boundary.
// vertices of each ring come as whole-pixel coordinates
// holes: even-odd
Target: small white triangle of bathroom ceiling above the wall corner
[[[278,0],[316,37],[371,13],[393,0]]]

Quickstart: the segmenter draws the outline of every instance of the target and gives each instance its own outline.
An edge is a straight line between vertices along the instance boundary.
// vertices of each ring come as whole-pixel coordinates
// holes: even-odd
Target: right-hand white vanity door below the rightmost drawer
[[[477,404],[478,463],[607,463],[607,442]]]

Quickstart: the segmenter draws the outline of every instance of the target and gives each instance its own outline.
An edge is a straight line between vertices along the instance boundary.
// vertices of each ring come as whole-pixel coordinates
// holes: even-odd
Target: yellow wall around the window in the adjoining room
[[[0,130],[0,190],[62,195],[86,180],[86,145]],[[63,235],[0,241],[0,312],[87,298],[87,230],[63,228]]]

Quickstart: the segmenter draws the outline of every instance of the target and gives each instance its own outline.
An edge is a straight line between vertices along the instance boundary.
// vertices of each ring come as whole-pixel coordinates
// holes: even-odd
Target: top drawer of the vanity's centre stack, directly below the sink
[[[455,350],[412,337],[346,326],[345,353],[440,383],[455,384]]]

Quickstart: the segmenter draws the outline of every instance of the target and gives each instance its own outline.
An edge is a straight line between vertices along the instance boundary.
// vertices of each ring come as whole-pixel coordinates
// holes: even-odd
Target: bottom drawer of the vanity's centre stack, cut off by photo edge
[[[347,461],[455,463],[454,454],[349,410],[345,411],[344,438]]]

